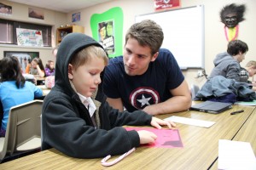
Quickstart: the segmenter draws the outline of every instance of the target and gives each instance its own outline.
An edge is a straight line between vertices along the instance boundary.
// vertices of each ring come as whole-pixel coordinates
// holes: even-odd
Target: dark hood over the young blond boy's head
[[[67,93],[73,94],[73,88],[68,79],[68,64],[74,54],[91,45],[102,48],[96,40],[82,33],[69,33],[63,38],[57,52],[55,86],[64,88]]]

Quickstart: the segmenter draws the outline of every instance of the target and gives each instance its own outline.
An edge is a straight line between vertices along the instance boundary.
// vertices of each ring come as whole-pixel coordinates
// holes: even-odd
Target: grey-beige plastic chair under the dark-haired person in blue
[[[0,162],[41,149],[43,100],[32,100],[11,107],[5,138],[0,138]]]

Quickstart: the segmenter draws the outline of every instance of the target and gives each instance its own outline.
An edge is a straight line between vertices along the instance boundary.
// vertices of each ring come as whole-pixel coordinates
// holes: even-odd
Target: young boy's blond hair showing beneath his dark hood
[[[104,49],[97,46],[89,46],[80,50],[77,54],[74,54],[73,59],[71,59],[70,64],[76,70],[80,65],[84,65],[89,59],[102,58],[104,64],[108,65],[108,55]]]

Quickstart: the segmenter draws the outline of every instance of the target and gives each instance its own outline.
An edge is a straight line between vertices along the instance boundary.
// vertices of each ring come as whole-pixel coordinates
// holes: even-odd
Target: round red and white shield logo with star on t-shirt
[[[141,87],[131,92],[130,102],[133,107],[143,110],[147,105],[158,104],[160,97],[158,92],[153,88]]]

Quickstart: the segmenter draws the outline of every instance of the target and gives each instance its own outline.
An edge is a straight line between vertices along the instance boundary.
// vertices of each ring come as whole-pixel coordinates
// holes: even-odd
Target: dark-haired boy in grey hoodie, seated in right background
[[[236,82],[247,82],[241,73],[240,63],[245,59],[248,49],[246,42],[242,42],[241,40],[230,41],[227,52],[218,54],[213,60],[215,67],[209,78],[223,76],[225,78],[235,79]]]

